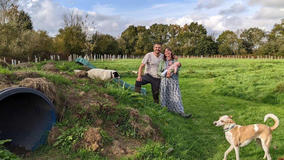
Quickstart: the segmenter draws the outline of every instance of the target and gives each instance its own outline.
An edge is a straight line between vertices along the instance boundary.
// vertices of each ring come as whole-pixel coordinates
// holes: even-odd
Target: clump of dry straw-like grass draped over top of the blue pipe
[[[45,94],[51,101],[58,102],[57,92],[52,82],[43,78],[25,78],[19,83],[19,87],[29,87]]]

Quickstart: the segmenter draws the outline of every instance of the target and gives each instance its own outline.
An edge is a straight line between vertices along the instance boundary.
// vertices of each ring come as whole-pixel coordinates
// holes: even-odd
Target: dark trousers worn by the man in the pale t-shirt
[[[153,99],[159,102],[159,91],[161,78],[155,78],[150,74],[145,74],[141,76],[142,82],[136,80],[135,87],[141,87],[141,85],[151,84]]]

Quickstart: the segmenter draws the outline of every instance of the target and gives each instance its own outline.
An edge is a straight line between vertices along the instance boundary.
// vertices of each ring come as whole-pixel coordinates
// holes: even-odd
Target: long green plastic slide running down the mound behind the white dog
[[[93,66],[93,64],[91,64],[87,59],[84,59],[84,58],[80,58],[79,57],[79,58],[77,58],[75,60],[75,62],[81,63],[84,66],[87,66],[87,67],[89,67],[91,69],[97,68],[97,67]],[[127,82],[124,82],[121,79],[118,81],[118,79],[116,79],[116,78],[114,78],[113,81],[118,83],[122,87],[124,86],[124,88],[129,88],[129,89],[134,91],[134,85],[131,85],[131,84],[127,83]],[[141,94],[146,95],[146,88],[141,87]]]

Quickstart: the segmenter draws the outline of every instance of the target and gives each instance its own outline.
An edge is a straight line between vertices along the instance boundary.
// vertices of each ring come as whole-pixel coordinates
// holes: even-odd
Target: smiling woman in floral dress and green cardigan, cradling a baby
[[[161,73],[167,69],[167,66],[171,66],[176,61],[177,60],[173,58],[171,48],[166,47],[164,49],[164,58],[160,61],[158,69],[158,75],[162,77],[160,84],[161,106],[166,106],[169,111],[177,112],[180,116],[189,118],[192,114],[184,113],[180,86],[178,83],[178,71],[180,71],[180,68],[178,68],[177,73],[172,76],[170,75],[171,70],[168,70],[166,77],[161,75]]]

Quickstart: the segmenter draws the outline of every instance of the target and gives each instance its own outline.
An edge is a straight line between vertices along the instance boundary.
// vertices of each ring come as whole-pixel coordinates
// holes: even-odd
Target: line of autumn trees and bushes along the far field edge
[[[274,24],[270,32],[258,27],[208,34],[198,22],[177,24],[130,25],[113,37],[96,31],[88,15],[69,9],[62,15],[61,28],[55,36],[44,29],[33,29],[28,13],[19,10],[18,0],[0,0],[0,57],[26,60],[27,57],[49,58],[59,54],[127,54],[144,55],[152,44],[160,42],[177,55],[274,55],[284,56],[284,19]]]

